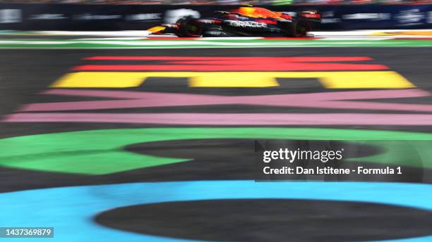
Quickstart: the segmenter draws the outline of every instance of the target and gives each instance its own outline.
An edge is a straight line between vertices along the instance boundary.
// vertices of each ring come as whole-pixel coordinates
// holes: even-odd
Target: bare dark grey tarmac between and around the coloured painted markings
[[[0,115],[19,113],[28,103],[92,101],[107,98],[59,96],[41,94],[49,85],[77,65],[88,64],[90,56],[367,56],[368,64],[388,66],[412,82],[418,89],[432,91],[430,48],[289,48],[289,49],[137,49],[137,50],[0,50],[1,106]],[[92,64],[116,65],[116,60]],[[128,64],[138,64],[131,61]],[[354,62],[355,63],[355,62]],[[191,70],[193,71],[193,70]],[[205,88],[188,87],[186,78],[153,78],[140,87],[115,91],[150,91],[161,93],[205,94],[220,96],[253,96],[301,94],[332,91],[366,91],[366,89],[325,89],[316,79],[278,79],[280,87],[265,88]],[[99,88],[109,91],[112,89]],[[371,100],[368,100],[371,101]],[[415,103],[431,105],[432,97],[391,98],[372,100],[378,103]],[[173,103],[176,100],[172,100]],[[334,108],[293,108],[275,106],[210,105],[84,110],[68,113],[398,113],[428,114],[394,110],[352,110]],[[223,125],[225,127],[226,125]],[[241,125],[240,125],[241,126]],[[54,134],[92,129],[138,129],[148,127],[191,127],[191,125],[146,125],[103,122],[0,122],[0,138]],[[211,128],[212,125],[192,127]],[[220,126],[219,126],[220,127]],[[229,125],[236,128],[239,125]],[[432,134],[429,125],[294,125],[277,127],[316,127],[333,129],[369,129]],[[91,139],[91,138],[89,138]],[[102,142],[95,140],[95,142]],[[290,141],[280,144],[293,146]],[[345,144],[342,142],[342,145]],[[49,146],[50,144],[46,144]],[[32,144],[28,144],[32,146]],[[1,148],[0,148],[1,149]],[[0,192],[24,191],[66,186],[88,186],[145,181],[254,180],[256,169],[251,165],[256,157],[254,139],[177,139],[140,142],[124,146],[136,155],[168,158],[188,158],[191,161],[144,167],[112,174],[78,174],[49,170],[22,170],[0,167]],[[366,147],[368,155],[382,150]],[[71,159],[73,155],[71,152]],[[77,153],[80,151],[76,151]],[[95,151],[95,155],[104,151]],[[354,152],[354,151],[353,151]],[[413,151],[415,153],[415,151]],[[361,155],[357,153],[357,155]],[[365,153],[363,153],[365,155]],[[19,151],[16,151],[18,158]],[[356,157],[356,156],[354,156]],[[412,157],[416,157],[415,154]],[[417,157],[418,158],[418,157]],[[432,157],[430,157],[432,158]],[[0,157],[0,162],[1,158]],[[31,158],[30,158],[31,159]],[[420,165],[402,165],[404,174],[397,176],[292,176],[294,180],[410,182],[432,184],[432,169],[428,158],[419,158]],[[54,158],[55,160],[55,158]],[[53,160],[53,161],[54,161]],[[91,162],[91,160],[89,160]],[[423,164],[421,164],[423,163]],[[411,163],[412,164],[412,163]],[[383,163],[362,163],[369,168],[382,168]],[[295,183],[287,183],[296,186]],[[346,191],[347,193],[354,191]],[[157,194],[157,191],[155,191]],[[103,195],[101,195],[103,196]],[[55,198],[53,198],[55,199]],[[411,198],[415,199],[415,198]],[[432,202],[431,202],[432,203]],[[31,202],[28,204],[32,206]],[[73,208],[72,208],[73,209]],[[17,216],[23,216],[18,213]],[[432,234],[432,212],[390,204],[344,202],[328,200],[201,200],[178,203],[113,208],[95,215],[94,222],[107,228],[133,231],[139,234],[209,241],[377,241],[411,238]],[[41,224],[42,226],[43,224]],[[73,224],[71,224],[73,226]],[[109,239],[107,238],[109,241]],[[425,240],[426,241],[426,240]]]

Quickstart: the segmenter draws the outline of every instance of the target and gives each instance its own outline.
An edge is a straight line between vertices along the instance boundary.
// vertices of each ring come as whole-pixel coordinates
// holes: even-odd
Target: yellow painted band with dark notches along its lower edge
[[[416,87],[394,71],[359,72],[75,72],[51,87],[138,87],[148,77],[188,77],[190,87],[277,87],[276,78],[316,78],[328,89]]]

